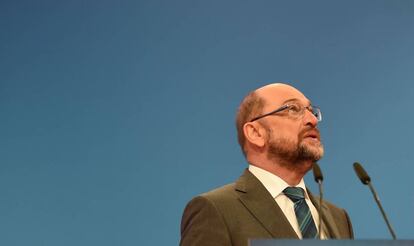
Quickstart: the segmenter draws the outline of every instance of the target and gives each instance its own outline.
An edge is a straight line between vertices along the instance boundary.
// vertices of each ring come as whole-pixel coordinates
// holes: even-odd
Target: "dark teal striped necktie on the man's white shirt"
[[[302,238],[316,238],[317,230],[312,214],[305,201],[305,192],[300,187],[287,187],[283,193],[295,204],[295,214],[298,220]]]

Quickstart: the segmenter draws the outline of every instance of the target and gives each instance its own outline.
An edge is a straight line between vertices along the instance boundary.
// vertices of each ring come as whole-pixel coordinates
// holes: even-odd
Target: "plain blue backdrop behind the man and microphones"
[[[240,101],[275,81],[322,108],[356,238],[390,238],[359,161],[412,239],[413,26],[408,0],[1,1],[0,244],[178,244],[188,200],[246,167]]]

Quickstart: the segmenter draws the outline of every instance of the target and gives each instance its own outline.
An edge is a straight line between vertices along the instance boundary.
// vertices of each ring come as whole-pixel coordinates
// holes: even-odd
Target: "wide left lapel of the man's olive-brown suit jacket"
[[[240,201],[273,237],[298,238],[274,198],[247,169],[237,180],[236,190]]]

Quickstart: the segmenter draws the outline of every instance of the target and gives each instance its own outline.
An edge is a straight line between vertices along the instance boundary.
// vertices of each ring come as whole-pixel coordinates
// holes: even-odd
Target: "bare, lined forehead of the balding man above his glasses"
[[[311,104],[310,100],[298,89],[286,84],[271,84],[256,90],[265,100],[265,109],[274,109],[287,103],[297,102],[304,106]]]

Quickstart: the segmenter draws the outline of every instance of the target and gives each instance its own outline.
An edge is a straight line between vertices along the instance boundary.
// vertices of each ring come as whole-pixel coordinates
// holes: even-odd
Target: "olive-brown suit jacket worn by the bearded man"
[[[319,207],[308,191],[312,203]],[[328,238],[352,239],[345,210],[323,202],[323,231]],[[181,221],[181,246],[247,246],[252,238],[292,238],[297,234],[274,198],[248,170],[236,181],[193,198]]]

